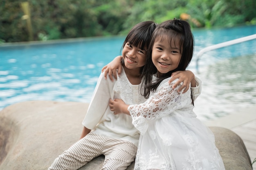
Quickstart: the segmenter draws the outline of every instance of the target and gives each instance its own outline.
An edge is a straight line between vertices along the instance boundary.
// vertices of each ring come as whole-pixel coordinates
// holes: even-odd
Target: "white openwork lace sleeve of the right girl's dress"
[[[151,95],[146,102],[137,105],[130,105],[128,110],[132,116],[132,124],[143,134],[148,129],[150,120],[160,119],[168,114],[172,114],[174,110],[184,107],[191,102],[191,91],[186,93],[178,93],[177,89],[171,88],[177,81],[168,83],[165,79],[157,88],[157,91]]]

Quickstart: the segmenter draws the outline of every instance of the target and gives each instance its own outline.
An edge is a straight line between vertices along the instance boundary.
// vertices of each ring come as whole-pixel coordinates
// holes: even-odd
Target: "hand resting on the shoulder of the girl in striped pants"
[[[117,79],[117,74],[120,75],[122,71],[122,58],[123,57],[121,55],[115,57],[114,60],[112,60],[112,62],[108,63],[101,69],[101,73],[105,71],[105,79],[107,78],[107,75],[109,76],[112,82],[114,81],[112,75],[114,75],[115,79]]]

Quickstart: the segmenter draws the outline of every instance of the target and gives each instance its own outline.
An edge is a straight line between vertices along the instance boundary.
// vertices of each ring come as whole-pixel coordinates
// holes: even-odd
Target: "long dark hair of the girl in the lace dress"
[[[182,51],[182,56],[180,63],[176,69],[169,71],[168,73],[162,74],[157,78],[157,81],[152,83],[152,75],[157,73],[157,68],[152,62],[152,48],[156,39],[168,38],[170,44],[171,42],[179,42],[180,51]],[[184,71],[186,67],[191,62],[194,50],[194,37],[191,32],[191,28],[188,22],[185,20],[167,20],[162,22],[157,26],[148,47],[147,57],[146,57],[146,67],[144,67],[142,75],[145,76],[144,79],[144,97],[148,98],[150,91],[155,91],[163,79],[171,76],[175,71]],[[171,88],[171,87],[170,87]],[[191,93],[192,94],[192,93]],[[193,96],[193,95],[191,95]],[[193,103],[193,97],[192,97]]]

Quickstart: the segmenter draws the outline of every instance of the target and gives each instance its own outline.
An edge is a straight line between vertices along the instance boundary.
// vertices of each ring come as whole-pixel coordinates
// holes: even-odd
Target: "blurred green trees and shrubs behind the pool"
[[[0,2],[0,42],[125,35],[138,22],[173,18],[193,28],[256,24],[256,0],[27,0],[30,17],[22,2]]]

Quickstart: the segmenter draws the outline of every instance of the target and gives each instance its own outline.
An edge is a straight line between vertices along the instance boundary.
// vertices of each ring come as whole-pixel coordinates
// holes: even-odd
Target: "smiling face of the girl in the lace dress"
[[[158,76],[176,69],[180,63],[182,51],[179,42],[167,38],[157,38],[153,44],[152,62],[157,68]]]

